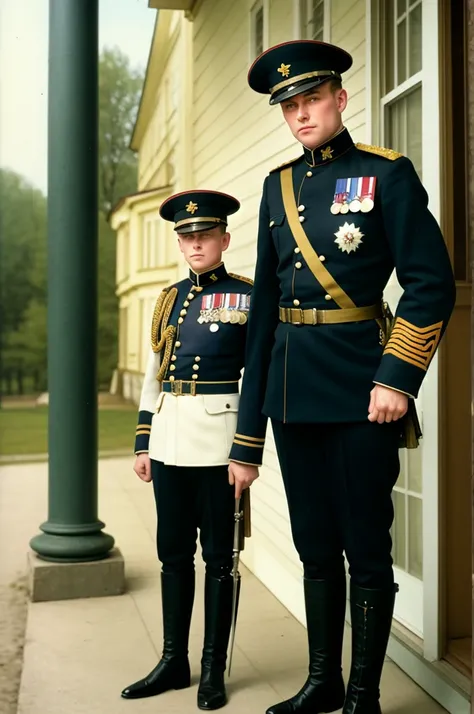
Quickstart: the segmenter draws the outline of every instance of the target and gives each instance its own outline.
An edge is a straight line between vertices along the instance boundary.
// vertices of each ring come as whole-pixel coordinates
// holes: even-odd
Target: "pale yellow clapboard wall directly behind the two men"
[[[235,195],[242,204],[231,217],[226,263],[253,277],[257,213],[268,170],[301,149],[283,122],[279,107],[247,84],[250,22],[247,0],[202,0],[194,29],[193,171],[196,186]],[[269,44],[294,39],[294,4],[269,2]],[[344,81],[350,101],[346,126],[355,141],[366,140],[365,0],[332,0],[330,41],[354,56]],[[329,38],[328,38],[329,39]],[[301,568],[293,547],[288,510],[269,427],[264,467],[252,487],[253,537],[243,559],[296,615],[303,615]]]

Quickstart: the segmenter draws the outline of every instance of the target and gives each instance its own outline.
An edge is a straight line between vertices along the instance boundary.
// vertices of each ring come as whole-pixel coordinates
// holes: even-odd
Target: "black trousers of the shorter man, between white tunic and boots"
[[[163,572],[194,568],[198,529],[206,571],[232,569],[234,486],[227,466],[180,467],[151,461]]]

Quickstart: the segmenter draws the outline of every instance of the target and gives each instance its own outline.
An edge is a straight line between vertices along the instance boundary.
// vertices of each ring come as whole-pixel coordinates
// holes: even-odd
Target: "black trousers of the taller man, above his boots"
[[[391,493],[399,473],[399,426],[272,425],[305,577],[337,577],[345,552],[355,584],[393,585]]]

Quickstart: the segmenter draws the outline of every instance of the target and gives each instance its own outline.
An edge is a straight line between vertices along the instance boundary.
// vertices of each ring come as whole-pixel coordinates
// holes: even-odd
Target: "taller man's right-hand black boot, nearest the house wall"
[[[380,677],[398,585],[369,590],[351,583],[352,666],[343,714],[380,714]]]

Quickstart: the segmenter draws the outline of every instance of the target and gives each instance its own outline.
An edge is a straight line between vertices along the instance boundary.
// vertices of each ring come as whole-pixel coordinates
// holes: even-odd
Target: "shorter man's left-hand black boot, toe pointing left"
[[[163,655],[144,679],[122,692],[124,699],[142,699],[191,684],[188,660],[189,627],[194,602],[194,571],[161,574]]]

